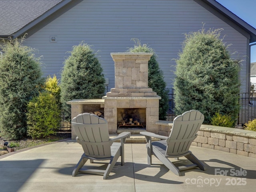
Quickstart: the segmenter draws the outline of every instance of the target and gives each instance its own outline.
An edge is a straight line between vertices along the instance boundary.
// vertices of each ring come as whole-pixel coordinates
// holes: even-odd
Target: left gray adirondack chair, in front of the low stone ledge
[[[104,118],[90,113],[79,114],[72,119],[71,124],[77,135],[76,141],[82,145],[84,150],[84,154],[73,170],[73,177],[80,172],[104,174],[103,179],[106,179],[119,156],[121,156],[121,165],[124,164],[124,142],[126,138],[130,137],[130,132],[122,132],[115,138],[110,138],[108,122]],[[116,140],[120,140],[120,142],[114,142]],[[88,169],[84,166],[88,159],[90,159],[90,163],[93,163],[94,160],[110,160],[110,162],[106,170]]]

